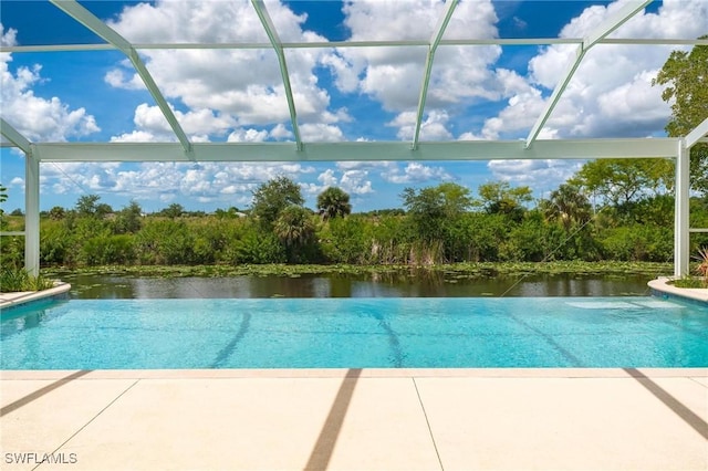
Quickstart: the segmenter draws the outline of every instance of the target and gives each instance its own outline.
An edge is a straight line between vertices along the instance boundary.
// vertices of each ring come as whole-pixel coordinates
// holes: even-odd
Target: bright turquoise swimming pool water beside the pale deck
[[[656,297],[71,300],[3,313],[3,369],[706,367]]]

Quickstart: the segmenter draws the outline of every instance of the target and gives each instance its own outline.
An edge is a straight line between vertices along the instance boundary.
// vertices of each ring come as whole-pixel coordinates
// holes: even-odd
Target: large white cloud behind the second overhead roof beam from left
[[[305,15],[294,14],[280,2],[267,3],[281,40],[325,41],[303,30]],[[252,6],[246,1],[139,3],[126,7],[108,24],[134,42],[269,41]],[[317,86],[313,70],[326,53],[321,49],[285,51],[293,100],[302,126],[333,125],[340,119],[347,119],[342,111],[329,111],[330,96]],[[235,137],[238,137],[239,128],[280,126],[290,121],[278,59],[270,49],[143,50],[140,54],[166,97],[190,108],[187,116],[190,113],[211,114],[206,118],[195,116],[194,126],[200,130],[194,133],[228,135],[232,127],[237,133]],[[123,88],[143,86],[125,62],[108,71],[105,81]],[[187,128],[189,124],[183,123],[183,126]],[[336,138],[334,127],[322,129],[326,130],[327,140]],[[277,128],[271,137],[290,137],[282,130]]]

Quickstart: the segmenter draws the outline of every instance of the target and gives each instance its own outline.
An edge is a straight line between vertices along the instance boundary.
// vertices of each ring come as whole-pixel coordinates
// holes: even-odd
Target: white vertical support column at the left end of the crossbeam
[[[40,273],[40,161],[31,151],[24,156],[24,268]]]

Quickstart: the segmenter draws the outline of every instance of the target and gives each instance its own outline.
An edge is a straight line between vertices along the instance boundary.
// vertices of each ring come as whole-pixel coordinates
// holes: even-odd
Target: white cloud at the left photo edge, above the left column
[[[17,31],[0,23],[0,43],[14,45]],[[2,117],[30,140],[65,142],[100,129],[93,115],[84,108],[72,109],[58,96],[37,96],[32,86],[39,83],[41,65],[10,67],[12,54],[0,54],[0,107]]]

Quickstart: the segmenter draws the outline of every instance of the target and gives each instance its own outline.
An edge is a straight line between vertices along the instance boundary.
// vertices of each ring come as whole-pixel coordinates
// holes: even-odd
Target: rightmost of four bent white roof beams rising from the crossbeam
[[[533,144],[535,138],[539,136],[539,133],[541,132],[541,129],[545,125],[545,122],[551,116],[551,113],[553,113],[553,109],[555,108],[555,105],[558,104],[559,100],[561,98],[561,95],[563,95],[563,92],[565,91],[565,87],[570,83],[571,78],[573,77],[573,74],[575,73],[575,71],[580,66],[580,63],[582,62],[582,60],[585,56],[585,54],[587,53],[587,51],[592,46],[597,44],[601,40],[603,40],[606,35],[608,35],[610,33],[615,31],[617,28],[623,25],[627,20],[629,20],[632,17],[634,17],[638,11],[644,9],[647,4],[652,3],[652,1],[653,0],[631,0],[631,1],[627,1],[615,14],[613,14],[612,17],[610,17],[605,21],[603,21],[597,28],[595,28],[593,31],[591,31],[583,39],[582,44],[580,44],[580,46],[577,48],[577,51],[576,51],[576,54],[575,54],[575,60],[568,67],[568,70],[565,71],[565,74],[561,77],[561,80],[559,81],[558,85],[555,85],[555,88],[553,90],[553,93],[551,94],[551,97],[549,98],[549,101],[548,101],[548,103],[545,105],[545,109],[539,116],[539,118],[534,123],[533,127],[531,128],[531,132],[529,133],[529,136],[527,137],[527,144],[525,144],[527,147],[531,147],[531,145]]]

